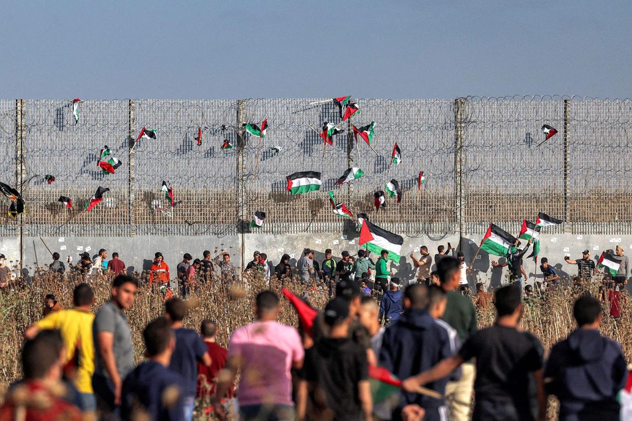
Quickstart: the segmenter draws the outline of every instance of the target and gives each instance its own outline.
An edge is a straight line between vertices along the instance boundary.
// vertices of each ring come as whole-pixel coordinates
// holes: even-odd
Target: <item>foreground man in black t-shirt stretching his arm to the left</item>
[[[481,329],[463,344],[454,357],[444,359],[428,371],[403,382],[407,391],[446,377],[464,361],[476,357],[475,400],[472,419],[532,421],[546,419],[546,397],[542,376],[544,350],[531,333],[519,331],[522,316],[520,290],[509,285],[496,290],[498,317],[493,326]],[[537,416],[530,399],[531,373],[535,378]]]

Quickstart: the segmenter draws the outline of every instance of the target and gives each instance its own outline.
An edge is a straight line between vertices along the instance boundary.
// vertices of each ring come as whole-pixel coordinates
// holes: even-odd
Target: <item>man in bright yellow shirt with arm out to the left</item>
[[[77,388],[83,408],[94,412],[96,401],[92,391],[92,374],[94,373],[94,340],[92,338],[92,321],[94,314],[90,307],[94,304],[94,292],[87,283],[80,283],[73,291],[72,309],[53,312],[40,321],[32,324],[24,333],[32,339],[41,330],[58,329],[66,348],[66,367],[75,368],[71,381]]]

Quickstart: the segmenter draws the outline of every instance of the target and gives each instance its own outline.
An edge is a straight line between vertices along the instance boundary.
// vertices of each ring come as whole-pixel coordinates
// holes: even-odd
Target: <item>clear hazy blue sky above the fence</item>
[[[1,98],[632,97],[627,1],[3,1]]]

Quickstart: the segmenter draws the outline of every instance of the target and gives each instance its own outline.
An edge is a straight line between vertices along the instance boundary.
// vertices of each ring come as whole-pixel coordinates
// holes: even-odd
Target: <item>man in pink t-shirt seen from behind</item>
[[[217,417],[227,419],[221,397],[241,370],[241,420],[294,420],[290,370],[303,366],[301,338],[295,328],[277,322],[281,307],[274,292],[260,292],[255,304],[257,321],[234,331],[228,343],[228,362],[214,403]]]

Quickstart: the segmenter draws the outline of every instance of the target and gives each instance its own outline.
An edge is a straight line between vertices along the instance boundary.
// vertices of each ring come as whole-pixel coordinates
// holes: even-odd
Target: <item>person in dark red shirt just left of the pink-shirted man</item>
[[[211,363],[210,365],[204,365],[198,362],[198,398],[206,398],[215,394],[217,377],[224,365],[226,365],[228,351],[226,348],[217,345],[215,342],[216,333],[217,324],[210,319],[204,319],[200,327],[200,336],[202,336],[204,345],[207,347]],[[228,399],[234,397],[233,384],[231,384],[228,393],[224,397]]]

